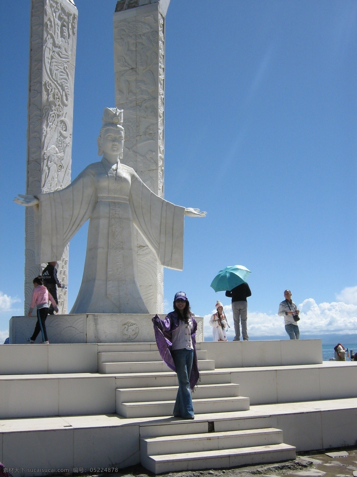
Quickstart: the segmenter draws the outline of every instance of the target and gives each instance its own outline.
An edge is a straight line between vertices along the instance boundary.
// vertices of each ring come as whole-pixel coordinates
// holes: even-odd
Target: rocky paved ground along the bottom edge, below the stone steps
[[[332,453],[332,454],[331,454]],[[331,454],[331,455],[328,455]],[[106,474],[96,474],[105,476]],[[108,475],[108,474],[107,474]],[[162,477],[357,477],[357,447],[343,449],[322,449],[302,453],[295,460],[259,466],[236,467],[230,469],[195,470],[170,472]],[[122,469],[115,477],[152,476],[144,467],[135,466]]]

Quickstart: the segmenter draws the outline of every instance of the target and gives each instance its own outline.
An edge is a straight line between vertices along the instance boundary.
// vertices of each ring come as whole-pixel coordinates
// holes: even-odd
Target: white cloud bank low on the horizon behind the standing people
[[[348,290],[348,291],[346,291]],[[352,291],[349,291],[352,290]],[[345,293],[345,295],[343,295]],[[342,290],[337,295],[346,296],[346,301],[353,299],[353,293],[357,296],[357,287],[349,287]],[[357,300],[355,300],[357,302]],[[300,321],[298,322],[300,335],[303,334],[327,334],[327,333],[357,333],[357,304],[346,302],[320,303],[317,304],[313,298],[308,298],[298,305],[300,310]],[[204,317],[205,336],[212,336],[212,328],[209,319],[214,313]],[[230,326],[228,339],[234,337],[232,306],[224,307],[224,312]],[[254,336],[282,336],[285,335],[284,318],[278,314],[268,315],[267,313],[248,311],[248,335]]]

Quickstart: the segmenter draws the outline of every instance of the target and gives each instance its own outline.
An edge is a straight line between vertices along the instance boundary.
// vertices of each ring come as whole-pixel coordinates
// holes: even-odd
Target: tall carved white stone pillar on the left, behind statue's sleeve
[[[72,0],[31,0],[30,74],[26,193],[37,195],[70,183],[73,81],[78,12]],[[25,314],[35,263],[33,208],[25,216]],[[59,262],[59,280],[68,283],[68,247]],[[67,313],[67,290],[58,290],[60,313]]]

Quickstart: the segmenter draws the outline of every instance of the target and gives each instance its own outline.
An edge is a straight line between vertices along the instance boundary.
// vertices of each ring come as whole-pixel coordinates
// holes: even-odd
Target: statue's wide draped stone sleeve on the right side
[[[136,173],[131,179],[129,204],[135,227],[161,265],[182,270],[185,207],[158,197]]]

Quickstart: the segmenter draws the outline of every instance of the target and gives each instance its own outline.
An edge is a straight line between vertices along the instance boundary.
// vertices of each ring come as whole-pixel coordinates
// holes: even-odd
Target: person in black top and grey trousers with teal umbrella
[[[242,323],[243,341],[248,341],[247,332],[247,297],[250,297],[250,291],[247,283],[247,277],[250,273],[243,265],[234,265],[220,270],[213,279],[211,287],[215,291],[226,290],[226,297],[232,298],[232,311],[234,321],[234,331],[236,336],[233,341],[240,341],[240,322]]]

